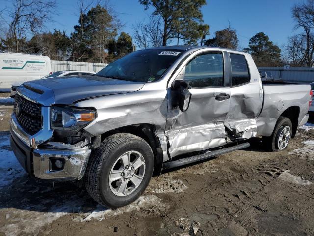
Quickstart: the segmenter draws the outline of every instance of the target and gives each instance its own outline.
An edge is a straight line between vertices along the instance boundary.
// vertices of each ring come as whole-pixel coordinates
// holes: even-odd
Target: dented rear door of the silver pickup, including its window
[[[232,139],[256,136],[256,120],[262,109],[262,84],[258,73],[251,73],[244,54],[228,53],[231,63],[230,109],[225,126]]]

